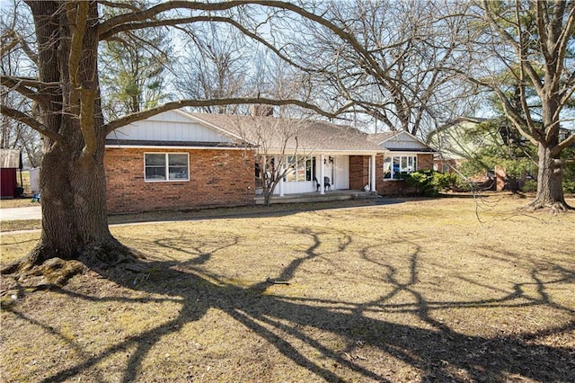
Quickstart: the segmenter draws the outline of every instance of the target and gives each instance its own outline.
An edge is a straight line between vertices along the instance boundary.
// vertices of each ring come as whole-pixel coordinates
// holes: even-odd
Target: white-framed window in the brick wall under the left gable
[[[188,153],[145,153],[146,182],[190,181]]]

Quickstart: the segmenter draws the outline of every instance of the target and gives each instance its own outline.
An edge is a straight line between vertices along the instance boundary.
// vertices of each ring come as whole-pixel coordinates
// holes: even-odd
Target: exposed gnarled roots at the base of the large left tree
[[[2,292],[14,285],[27,289],[49,289],[66,285],[76,274],[88,269],[101,275],[121,275],[127,271],[141,272],[142,265],[137,263],[141,254],[137,254],[115,238],[107,238],[84,246],[74,259],[62,259],[53,256],[46,246],[37,245],[30,254],[0,270],[3,276]]]

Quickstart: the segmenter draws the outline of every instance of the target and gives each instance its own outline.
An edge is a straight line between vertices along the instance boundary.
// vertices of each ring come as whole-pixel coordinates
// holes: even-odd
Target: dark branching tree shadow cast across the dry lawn
[[[276,276],[278,280],[290,281],[296,270],[305,262],[320,256],[318,251],[321,236],[313,230],[297,229],[301,235],[309,236],[311,243],[303,252],[283,268]],[[545,293],[548,283],[567,281],[573,278],[573,271],[558,269],[564,279],[545,282],[532,273],[533,284],[539,295],[536,299],[523,293],[525,283],[517,283],[513,292],[507,296],[494,299],[468,301],[430,301],[415,289],[420,272],[420,248],[412,245],[409,264],[400,271],[387,263],[369,259],[368,249],[361,256],[383,270],[381,281],[392,290],[377,299],[356,303],[341,300],[320,298],[293,298],[270,295],[265,291],[270,287],[269,281],[255,283],[249,288],[236,286],[222,281],[217,275],[210,275],[199,269],[207,263],[219,248],[237,243],[232,238],[229,244],[222,244],[208,252],[200,245],[195,248],[180,248],[190,256],[184,262],[174,260],[155,260],[146,262],[149,278],[134,285],[133,276],[126,273],[110,272],[106,277],[129,289],[143,290],[147,293],[169,295],[166,300],[177,300],[181,304],[178,316],[157,325],[152,329],[131,336],[96,355],[84,357],[82,362],[60,370],[43,381],[61,381],[70,379],[93,368],[100,361],[117,352],[131,352],[123,381],[140,379],[138,372],[146,355],[154,345],[169,334],[178,333],[182,327],[206,316],[209,309],[218,309],[234,318],[275,347],[281,354],[296,365],[314,374],[317,379],[336,382],[349,380],[350,377],[363,381],[392,381],[382,370],[385,366],[364,362],[358,356],[364,347],[376,349],[390,355],[398,361],[420,371],[420,376],[427,381],[506,381],[509,377],[523,377],[535,381],[570,381],[575,377],[575,347],[573,345],[552,347],[536,341],[550,334],[566,334],[575,331],[575,320],[557,328],[547,328],[540,332],[505,336],[477,336],[457,332],[448,325],[435,319],[433,310],[449,307],[521,307],[522,305],[549,306],[560,309],[567,314],[575,315],[571,307],[561,307],[553,303]],[[344,251],[352,242],[350,236],[344,236],[337,251]],[[168,241],[162,243],[170,245]],[[173,245],[173,243],[172,243]],[[190,250],[192,249],[192,250]],[[400,278],[405,275],[407,278]],[[405,281],[402,281],[405,280]],[[178,281],[185,281],[185,289],[178,288]],[[59,289],[63,294],[76,298],[92,300],[89,295]],[[398,294],[409,294],[413,303],[400,306],[392,303]],[[130,298],[118,298],[130,302]],[[374,313],[394,310],[394,313],[418,316],[424,326],[401,325],[374,318]],[[37,324],[38,325],[38,324]],[[306,329],[316,329],[323,334],[333,334],[344,340],[344,347],[331,348],[314,337]],[[222,339],[222,342],[226,342]],[[310,357],[310,350],[320,354],[320,363]],[[84,354],[81,354],[84,355]],[[85,356],[85,355],[84,355]],[[334,368],[333,366],[338,366]]]

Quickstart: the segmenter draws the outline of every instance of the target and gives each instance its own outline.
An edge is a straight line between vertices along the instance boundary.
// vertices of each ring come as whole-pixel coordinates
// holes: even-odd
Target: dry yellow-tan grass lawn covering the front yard
[[[525,204],[112,227],[146,272],[3,289],[0,379],[573,381],[575,214]],[[38,236],[3,233],[2,262]]]

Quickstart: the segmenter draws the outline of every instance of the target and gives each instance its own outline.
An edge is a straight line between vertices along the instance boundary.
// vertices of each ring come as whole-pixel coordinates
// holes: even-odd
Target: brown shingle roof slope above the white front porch
[[[286,143],[288,150],[297,147],[315,152],[383,152],[382,147],[367,139],[366,133],[326,121],[208,113],[190,115],[226,130],[235,139],[270,150],[279,150]]]

